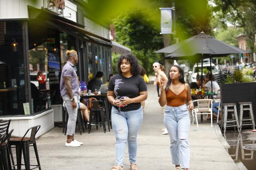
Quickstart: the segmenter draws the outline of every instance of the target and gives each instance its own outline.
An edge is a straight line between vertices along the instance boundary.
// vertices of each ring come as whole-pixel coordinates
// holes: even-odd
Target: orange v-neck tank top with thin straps
[[[175,94],[171,89],[166,93],[166,101],[168,106],[178,107],[186,103],[186,88],[179,94]]]

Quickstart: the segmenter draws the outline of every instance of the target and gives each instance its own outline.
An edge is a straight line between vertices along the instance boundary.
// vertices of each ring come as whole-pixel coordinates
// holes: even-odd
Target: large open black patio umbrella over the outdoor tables
[[[170,53],[166,56],[166,59],[201,59],[201,86],[203,86],[203,59],[210,58],[211,61],[211,57],[225,57],[229,54],[245,54],[250,52],[231,46],[201,32],[180,43],[155,51],[155,53]]]

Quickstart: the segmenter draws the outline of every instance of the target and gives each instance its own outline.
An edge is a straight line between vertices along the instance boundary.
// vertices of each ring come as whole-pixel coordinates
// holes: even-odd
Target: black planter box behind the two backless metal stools
[[[221,84],[220,94],[222,103],[237,103],[238,115],[240,115],[238,102],[252,102],[256,123],[256,83]]]

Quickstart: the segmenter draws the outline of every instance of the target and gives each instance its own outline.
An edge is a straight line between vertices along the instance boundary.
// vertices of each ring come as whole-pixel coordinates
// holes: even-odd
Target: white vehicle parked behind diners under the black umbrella
[[[203,69],[207,68],[207,70],[209,70],[209,72],[211,71],[212,75],[216,75],[218,74],[218,69],[216,67],[216,65],[214,65],[213,63],[211,63],[210,66],[210,62],[203,62]],[[199,76],[201,76],[201,63],[195,63],[192,71],[189,71],[189,83],[191,82],[196,82],[197,81],[197,75],[199,74]],[[203,76],[205,74],[203,73]]]

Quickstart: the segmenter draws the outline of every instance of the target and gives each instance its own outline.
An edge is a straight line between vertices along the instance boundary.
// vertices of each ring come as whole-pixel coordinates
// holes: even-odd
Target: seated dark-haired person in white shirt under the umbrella
[[[205,77],[205,84],[203,84],[203,88],[209,88],[211,92],[211,80],[212,80],[212,92],[215,92],[216,94],[218,93],[218,90],[220,90],[219,84],[215,81],[214,76],[211,77],[211,73],[207,73]],[[218,95],[219,96],[219,95]],[[217,96],[213,96],[216,98]],[[212,112],[213,112],[213,117],[217,118],[218,115],[218,109],[217,106],[219,106],[219,102],[213,103],[212,104]],[[211,115],[207,115],[207,119],[211,119]],[[219,117],[221,117],[219,115]]]

